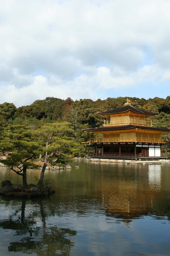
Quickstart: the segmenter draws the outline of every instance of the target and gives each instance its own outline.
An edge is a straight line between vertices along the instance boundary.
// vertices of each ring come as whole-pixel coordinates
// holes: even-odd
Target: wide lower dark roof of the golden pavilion
[[[150,126],[140,126],[140,125],[116,125],[116,126],[102,126],[97,128],[89,128],[89,129],[83,129],[86,132],[99,132],[99,131],[119,131],[119,130],[125,130],[125,129],[144,129],[149,131],[160,131],[160,132],[170,132],[170,129],[166,128],[156,128],[156,127],[150,127]]]

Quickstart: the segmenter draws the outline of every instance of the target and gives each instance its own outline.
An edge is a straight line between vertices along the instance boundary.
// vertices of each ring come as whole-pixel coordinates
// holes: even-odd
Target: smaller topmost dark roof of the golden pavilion
[[[111,115],[111,114],[119,114],[119,113],[123,113],[123,112],[128,112],[128,111],[132,111],[134,113],[137,114],[143,114],[143,115],[157,115],[159,113],[156,112],[151,112],[151,111],[147,111],[147,110],[143,110],[140,108],[136,108],[135,106],[132,105],[123,105],[119,108],[114,108],[108,111],[103,111],[103,112],[98,112],[98,114],[100,115]]]

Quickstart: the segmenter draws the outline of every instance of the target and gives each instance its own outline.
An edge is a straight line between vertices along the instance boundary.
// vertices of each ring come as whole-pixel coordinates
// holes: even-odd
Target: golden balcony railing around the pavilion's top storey
[[[115,125],[115,124],[140,124],[140,125],[147,125],[147,126],[152,126],[152,121],[151,120],[139,120],[139,119],[133,119],[129,118],[126,120],[117,120],[117,121],[107,121],[104,120],[104,125]]]

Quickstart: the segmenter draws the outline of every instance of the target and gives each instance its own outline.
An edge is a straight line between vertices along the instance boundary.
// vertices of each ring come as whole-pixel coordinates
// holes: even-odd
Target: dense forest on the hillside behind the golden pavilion
[[[13,103],[4,102],[0,104],[0,129],[1,138],[3,130],[9,125],[23,125],[32,130],[40,129],[49,123],[69,122],[73,131],[72,137],[75,140],[75,147],[70,151],[74,156],[85,156],[84,144],[88,141],[88,134],[82,131],[83,128],[98,127],[103,124],[103,117],[98,112],[118,108],[126,103],[127,97],[98,99],[80,99],[73,101],[71,98],[62,100],[54,97],[47,97],[37,100],[28,106],[16,108]],[[158,112],[157,116],[151,117],[154,126],[170,129],[170,96],[163,98],[129,98],[130,104],[148,111]],[[166,138],[167,135],[163,135]],[[1,152],[3,142],[0,141]],[[167,148],[163,148],[165,154],[169,154]]]

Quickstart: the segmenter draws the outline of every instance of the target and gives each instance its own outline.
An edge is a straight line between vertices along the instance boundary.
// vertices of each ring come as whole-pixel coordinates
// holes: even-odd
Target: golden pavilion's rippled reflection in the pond
[[[145,181],[145,182],[143,182]],[[106,213],[125,224],[154,212],[154,204],[161,189],[161,166],[148,165],[148,172],[136,178],[118,178],[115,183],[102,180],[103,203],[108,205]]]

